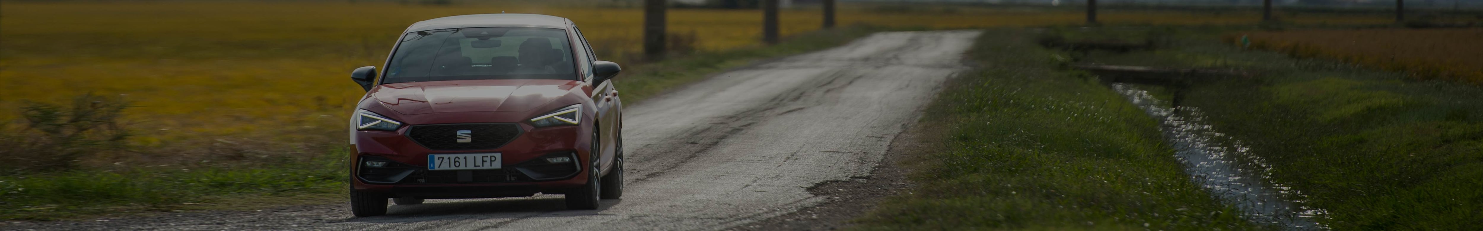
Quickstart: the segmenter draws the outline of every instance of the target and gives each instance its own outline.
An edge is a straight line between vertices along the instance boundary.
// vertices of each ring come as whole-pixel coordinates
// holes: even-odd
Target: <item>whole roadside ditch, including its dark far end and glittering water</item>
[[[1062,34],[1051,33],[1044,34],[1040,44],[1072,52],[1072,56],[1078,59],[1091,56],[1094,50],[1117,55],[1134,50],[1151,53],[1170,44],[1170,36],[1155,30],[1142,34],[1140,43],[1136,38],[1127,38],[1129,31],[1139,30],[1115,28],[1109,31],[1100,31],[1103,33],[1100,36],[1123,34],[1066,40]],[[1210,191],[1222,203],[1240,209],[1243,218],[1281,230],[1327,230],[1317,222],[1327,212],[1296,206],[1308,200],[1308,195],[1278,182],[1272,176],[1272,164],[1253,154],[1252,148],[1240,139],[1216,130],[1200,108],[1180,105],[1186,89],[1195,84],[1252,78],[1256,74],[1240,68],[1169,68],[1083,62],[1087,64],[1071,65],[1071,68],[1089,71],[1097,81],[1155,118],[1158,130],[1175,150],[1175,158],[1182,163],[1189,181]],[[1160,99],[1151,90],[1167,93],[1161,95],[1166,99]]]

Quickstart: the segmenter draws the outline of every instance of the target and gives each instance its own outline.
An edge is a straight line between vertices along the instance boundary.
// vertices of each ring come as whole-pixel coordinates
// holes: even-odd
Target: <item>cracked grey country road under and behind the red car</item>
[[[624,111],[624,198],[429,200],[353,218],[349,204],[196,212],[0,230],[724,230],[820,204],[826,181],[871,173],[979,31],[878,33],[716,74]],[[618,78],[621,81],[621,78]]]

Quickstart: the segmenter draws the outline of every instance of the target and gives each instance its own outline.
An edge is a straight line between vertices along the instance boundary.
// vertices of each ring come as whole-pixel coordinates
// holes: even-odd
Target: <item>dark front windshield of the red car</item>
[[[440,80],[577,80],[567,31],[482,27],[408,33],[383,83]]]

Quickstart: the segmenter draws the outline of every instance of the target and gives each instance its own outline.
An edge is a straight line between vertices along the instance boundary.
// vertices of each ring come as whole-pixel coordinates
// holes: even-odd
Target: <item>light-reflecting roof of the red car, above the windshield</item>
[[[534,15],[534,13],[482,13],[482,15],[458,15],[458,16],[443,16],[421,21],[406,27],[403,33],[426,31],[426,30],[445,30],[445,28],[470,28],[470,27],[541,27],[541,28],[567,28],[571,21],[561,16],[550,15]]]

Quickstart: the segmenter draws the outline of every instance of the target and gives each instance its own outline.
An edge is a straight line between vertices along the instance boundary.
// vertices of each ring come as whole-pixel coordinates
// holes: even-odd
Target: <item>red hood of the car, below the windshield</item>
[[[371,96],[400,114],[529,111],[577,87],[572,80],[452,80],[389,83]]]

